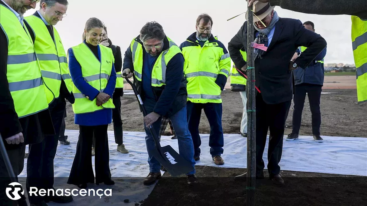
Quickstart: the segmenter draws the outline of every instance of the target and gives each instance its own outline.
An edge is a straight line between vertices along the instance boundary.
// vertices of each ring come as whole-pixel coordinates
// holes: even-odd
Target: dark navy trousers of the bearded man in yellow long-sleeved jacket
[[[209,147],[212,157],[223,154],[223,129],[222,129],[222,103],[192,103],[187,102],[187,119],[189,125],[189,131],[194,143],[194,157],[200,156],[200,135],[199,135],[199,123],[201,110],[204,109],[204,113],[208,118],[210,125],[209,135]]]

